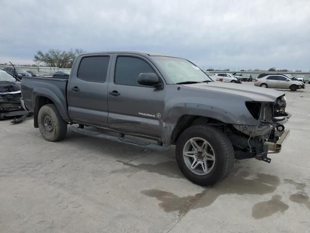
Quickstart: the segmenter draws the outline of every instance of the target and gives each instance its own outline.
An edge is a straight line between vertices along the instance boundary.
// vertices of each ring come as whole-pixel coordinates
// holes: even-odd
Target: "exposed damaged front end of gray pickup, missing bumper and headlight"
[[[275,102],[248,101],[249,113],[258,125],[233,124],[228,134],[235,149],[236,159],[256,158],[270,163],[268,153],[279,153],[289,135],[284,124],[291,117],[285,112],[287,100],[280,96]],[[271,151],[271,152],[268,152]]]

